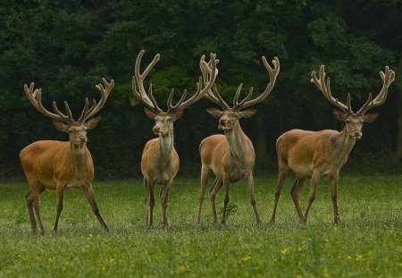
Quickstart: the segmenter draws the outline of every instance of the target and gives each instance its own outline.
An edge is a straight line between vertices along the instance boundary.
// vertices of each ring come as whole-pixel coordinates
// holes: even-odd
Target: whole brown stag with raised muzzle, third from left
[[[205,138],[199,145],[199,153],[201,156],[201,192],[199,196],[199,208],[197,223],[201,222],[201,209],[204,202],[205,188],[208,183],[210,171],[215,175],[215,181],[210,190],[210,199],[214,223],[217,221],[215,197],[222,187],[225,190],[225,197],[223,203],[222,224],[226,223],[226,209],[229,203],[229,185],[231,182],[239,181],[240,179],[247,180],[247,190],[250,197],[251,205],[253,206],[256,223],[261,225],[261,219],[255,205],[254,196],[254,164],[255,164],[255,151],[253,143],[248,139],[247,135],[241,130],[239,119],[249,118],[255,114],[255,110],[245,110],[251,105],[256,105],[267,97],[275,84],[275,80],[280,72],[280,62],[278,58],[272,61],[273,69],[267,63],[263,56],[263,63],[270,76],[270,82],[265,88],[264,92],[254,99],[250,99],[253,88],[250,89],[247,97],[239,102],[239,95],[242,84],[233,99],[233,107],[230,107],[218,93],[214,86],[214,91],[208,90],[207,97],[215,104],[220,105],[222,110],[215,108],[207,109],[206,111],[214,118],[219,119],[218,128],[224,132],[222,134],[215,134]],[[204,80],[208,80],[211,75],[211,68],[209,63],[201,64],[203,66]]]

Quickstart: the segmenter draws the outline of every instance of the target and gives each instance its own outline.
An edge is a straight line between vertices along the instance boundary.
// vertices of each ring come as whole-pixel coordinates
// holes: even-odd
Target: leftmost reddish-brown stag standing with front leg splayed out
[[[34,83],[30,83],[29,87],[26,84],[24,86],[30,103],[40,113],[53,119],[54,127],[58,131],[67,132],[70,139],[69,142],[37,141],[21,150],[21,165],[30,188],[25,199],[28,206],[32,232],[37,231],[34,209],[38,218],[40,232],[43,234],[45,231],[39,214],[39,195],[46,189],[56,190],[57,215],[54,222],[54,232],[57,232],[59,217],[63,210],[63,193],[65,189],[69,188],[82,188],[84,190],[89,205],[99,223],[101,223],[105,231],[109,231],[96,206],[94,190],[92,188],[94,164],[87,147],[87,131],[96,127],[100,121],[100,117],[93,118],[88,122],[87,120],[105,105],[106,98],[109,97],[114,86],[113,80],[110,83],[105,79],[102,80],[105,83],[105,87],[101,84],[96,85],[96,88],[102,94],[99,103],[96,104],[96,100],[94,99],[91,107],[88,108],[89,102],[88,98],[86,98],[84,109],[78,121],[73,120],[67,102],[64,101],[67,114],[61,113],[55,102],[53,102],[55,114],[51,113],[42,105],[41,88],[37,88],[34,91]]]

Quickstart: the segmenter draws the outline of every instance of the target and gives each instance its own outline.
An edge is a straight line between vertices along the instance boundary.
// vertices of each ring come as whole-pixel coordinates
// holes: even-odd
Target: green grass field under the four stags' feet
[[[168,207],[169,231],[145,229],[141,181],[94,184],[96,200],[111,231],[103,232],[82,190],[64,194],[57,235],[52,233],[55,192],[41,195],[44,236],[29,231],[24,182],[0,183],[0,276],[2,277],[402,277],[402,176],[348,176],[339,180],[339,214],[333,225],[328,181],[322,179],[307,226],[297,223],[288,179],[277,222],[269,227],[274,177],[255,178],[263,228],[244,183],[230,187],[226,227],[213,226],[205,198],[196,224],[199,183],[177,179]],[[160,186],[157,186],[159,191]],[[306,207],[308,187],[303,191]],[[222,208],[222,192],[218,196]]]

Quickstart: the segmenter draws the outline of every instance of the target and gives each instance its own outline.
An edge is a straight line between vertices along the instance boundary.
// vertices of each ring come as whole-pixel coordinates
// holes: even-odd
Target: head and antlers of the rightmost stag
[[[353,139],[361,139],[363,136],[362,129],[364,122],[373,122],[378,117],[378,113],[373,114],[365,114],[369,109],[382,105],[385,102],[388,94],[389,85],[395,80],[395,72],[389,70],[389,67],[385,67],[385,73],[380,72],[382,79],[382,88],[380,93],[372,100],[372,94],[369,94],[369,97],[365,104],[360,108],[359,111],[354,113],[352,111],[352,105],[350,101],[350,94],[348,94],[348,103],[347,105],[339,102],[337,98],[331,96],[330,89],[330,79],[327,78],[327,82],[325,83],[325,72],[324,66],[320,67],[320,79],[317,79],[315,72],[311,73],[311,82],[314,83],[317,88],[322,91],[322,94],[331,102],[331,104],[337,106],[342,110],[342,112],[333,111],[335,119],[338,121],[343,121],[346,123],[346,131],[348,135]]]

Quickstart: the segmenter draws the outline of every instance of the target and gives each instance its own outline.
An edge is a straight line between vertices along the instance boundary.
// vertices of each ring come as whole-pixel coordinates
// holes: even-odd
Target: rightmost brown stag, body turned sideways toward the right
[[[347,162],[348,154],[355,145],[356,139],[362,138],[363,123],[373,122],[378,116],[378,113],[365,113],[369,109],[384,103],[387,98],[389,85],[395,80],[395,72],[390,71],[388,66],[385,68],[385,73],[380,72],[380,75],[383,85],[379,95],[372,100],[372,94],[370,94],[363,107],[357,113],[353,113],[350,94],[348,94],[347,105],[342,104],[338,99],[331,96],[330,79],[327,79],[326,83],[324,80],[324,66],[322,65],[320,68],[319,80],[315,72],[312,72],[311,81],[322,91],[322,94],[331,104],[342,110],[342,112],[334,110],[333,114],[338,121],[346,123],[345,128],[340,132],[330,130],[292,130],[283,133],[277,139],[276,150],[278,153],[279,173],[270,223],[275,222],[278,201],[281,197],[283,183],[289,170],[296,174],[296,181],[290,190],[290,195],[295,203],[300,223],[306,224],[307,222],[307,215],[314,202],[318,181],[322,176],[330,178],[334,223],[340,223],[337,203],[339,170]],[[311,179],[311,187],[306,213],[303,215],[299,196],[306,179]]]

